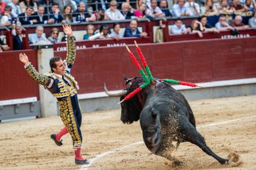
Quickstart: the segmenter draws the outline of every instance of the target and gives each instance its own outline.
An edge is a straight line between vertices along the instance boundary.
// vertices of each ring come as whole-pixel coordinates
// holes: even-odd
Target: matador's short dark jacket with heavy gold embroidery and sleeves
[[[64,76],[69,80],[69,84],[66,84],[62,78],[56,76],[52,72],[45,73],[45,75],[38,73],[31,64],[28,65],[26,70],[34,81],[45,86],[54,97],[61,100],[67,96],[75,95],[79,89],[77,81],[70,75],[70,68],[74,65],[75,55],[74,36],[67,37],[67,58],[64,60],[64,63],[66,64],[66,73]]]

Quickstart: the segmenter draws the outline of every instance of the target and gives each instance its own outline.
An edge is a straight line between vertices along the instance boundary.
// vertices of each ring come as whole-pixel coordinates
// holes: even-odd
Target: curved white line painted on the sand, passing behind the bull
[[[237,119],[232,119],[232,120],[228,120],[228,121],[221,121],[219,123],[211,123],[211,124],[205,124],[205,125],[202,125],[202,126],[198,126],[197,129],[201,129],[203,127],[210,127],[210,126],[217,126],[219,124],[227,124],[227,123],[232,123],[232,122],[236,122],[236,121],[241,121],[243,119],[251,119],[251,118],[256,118],[256,115],[253,115],[253,116],[246,116],[246,117],[242,117],[242,118],[237,118]],[[109,155],[111,153],[114,153],[116,151],[119,151],[119,150],[123,150],[127,147],[130,147],[132,145],[141,145],[141,144],[144,144],[143,141],[140,141],[140,142],[135,142],[133,144],[129,144],[129,145],[126,145],[124,147],[120,147],[120,148],[116,148],[115,150],[111,150],[111,151],[108,151],[108,152],[105,152],[105,153],[101,153],[100,155],[96,155],[95,158],[92,158],[90,160],[88,160],[90,162],[90,164],[86,164],[86,165],[83,165],[82,168],[80,170],[87,170],[92,164],[93,162],[95,162],[96,160],[100,159],[100,158],[103,158],[104,156],[106,155]]]

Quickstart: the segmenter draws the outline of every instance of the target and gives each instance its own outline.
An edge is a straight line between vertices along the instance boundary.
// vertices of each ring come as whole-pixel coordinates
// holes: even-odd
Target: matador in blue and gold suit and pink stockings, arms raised
[[[28,61],[26,54],[20,54],[19,59],[25,64],[25,70],[34,81],[48,89],[59,102],[59,115],[65,127],[57,134],[51,134],[51,139],[56,145],[61,146],[61,137],[69,132],[73,140],[75,152],[75,164],[89,164],[89,161],[81,156],[82,133],[80,126],[82,123],[82,114],[77,98],[79,86],[74,77],[70,75],[70,68],[75,62],[75,40],[71,26],[65,24],[62,26],[67,36],[67,57],[62,60],[61,57],[51,58],[49,65],[51,71],[40,74]]]

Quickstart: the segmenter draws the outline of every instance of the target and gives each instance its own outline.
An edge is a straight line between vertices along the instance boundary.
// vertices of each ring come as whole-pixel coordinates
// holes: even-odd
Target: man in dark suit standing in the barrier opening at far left
[[[12,26],[12,41],[14,51],[22,50],[22,27],[20,25]]]

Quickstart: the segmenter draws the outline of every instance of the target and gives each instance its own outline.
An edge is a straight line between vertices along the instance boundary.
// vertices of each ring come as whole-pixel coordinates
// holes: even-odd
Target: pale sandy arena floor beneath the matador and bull
[[[189,103],[197,127],[224,122],[198,131],[217,155],[235,162],[221,165],[197,146],[182,143],[173,155],[186,164],[172,168],[142,144],[139,122],[122,124],[118,109],[83,114],[83,156],[92,160],[111,151],[88,169],[256,169],[256,95]],[[87,169],[75,165],[69,134],[62,137],[61,147],[50,139],[62,126],[59,116],[1,123],[0,169]]]

